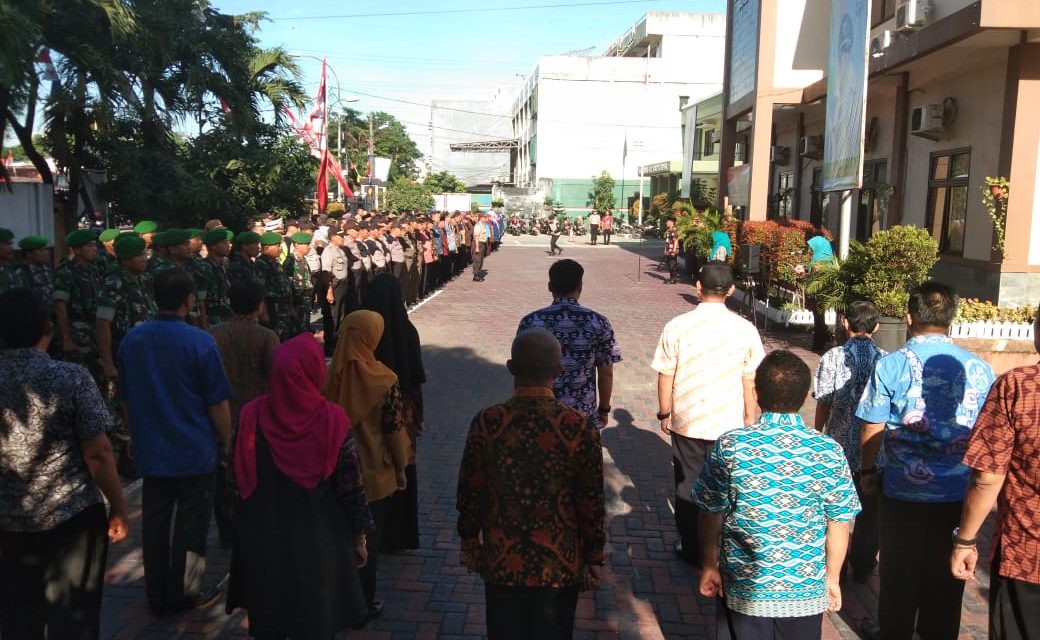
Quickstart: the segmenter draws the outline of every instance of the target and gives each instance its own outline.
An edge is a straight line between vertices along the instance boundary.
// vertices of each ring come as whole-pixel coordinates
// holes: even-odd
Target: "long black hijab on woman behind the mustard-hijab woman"
[[[375,276],[366,291],[365,309],[382,315],[385,324],[375,357],[397,374],[401,390],[417,389],[426,381],[419,332],[408,319],[397,279],[390,274]]]

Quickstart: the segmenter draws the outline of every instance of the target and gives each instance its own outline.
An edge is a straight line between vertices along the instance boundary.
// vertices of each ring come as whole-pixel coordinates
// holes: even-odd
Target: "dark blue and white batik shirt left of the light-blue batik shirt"
[[[827,425],[816,428],[837,440],[853,470],[860,468],[859,434],[863,425],[855,415],[856,406],[883,355],[885,352],[870,338],[852,338],[824,354],[812,382],[813,398],[831,407]]]

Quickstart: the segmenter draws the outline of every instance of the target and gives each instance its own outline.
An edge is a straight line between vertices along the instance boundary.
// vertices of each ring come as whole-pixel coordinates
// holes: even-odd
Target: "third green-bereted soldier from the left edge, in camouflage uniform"
[[[73,257],[54,272],[54,312],[61,336],[64,359],[82,364],[94,376],[99,389],[105,388],[94,332],[98,293],[104,278],[94,266],[98,244],[94,232],[79,229],[66,236]]]

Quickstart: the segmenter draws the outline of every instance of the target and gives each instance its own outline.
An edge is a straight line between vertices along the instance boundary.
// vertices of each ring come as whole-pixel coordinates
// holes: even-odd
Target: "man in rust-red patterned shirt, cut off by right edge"
[[[1033,325],[1040,351],[1040,316]],[[964,454],[971,480],[954,535],[954,578],[974,575],[976,538],[999,498],[989,570],[989,637],[1040,638],[1040,365],[1000,376]]]

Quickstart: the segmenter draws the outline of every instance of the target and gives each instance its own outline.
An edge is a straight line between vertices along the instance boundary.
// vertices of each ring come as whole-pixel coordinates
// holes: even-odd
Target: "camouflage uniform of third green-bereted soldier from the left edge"
[[[69,315],[69,327],[76,344],[74,360],[85,366],[99,389],[105,388],[98,354],[98,340],[94,332],[98,293],[105,279],[95,268],[94,263],[82,264],[68,260],[54,272],[54,302],[64,303]],[[68,357],[68,354],[67,354]]]

